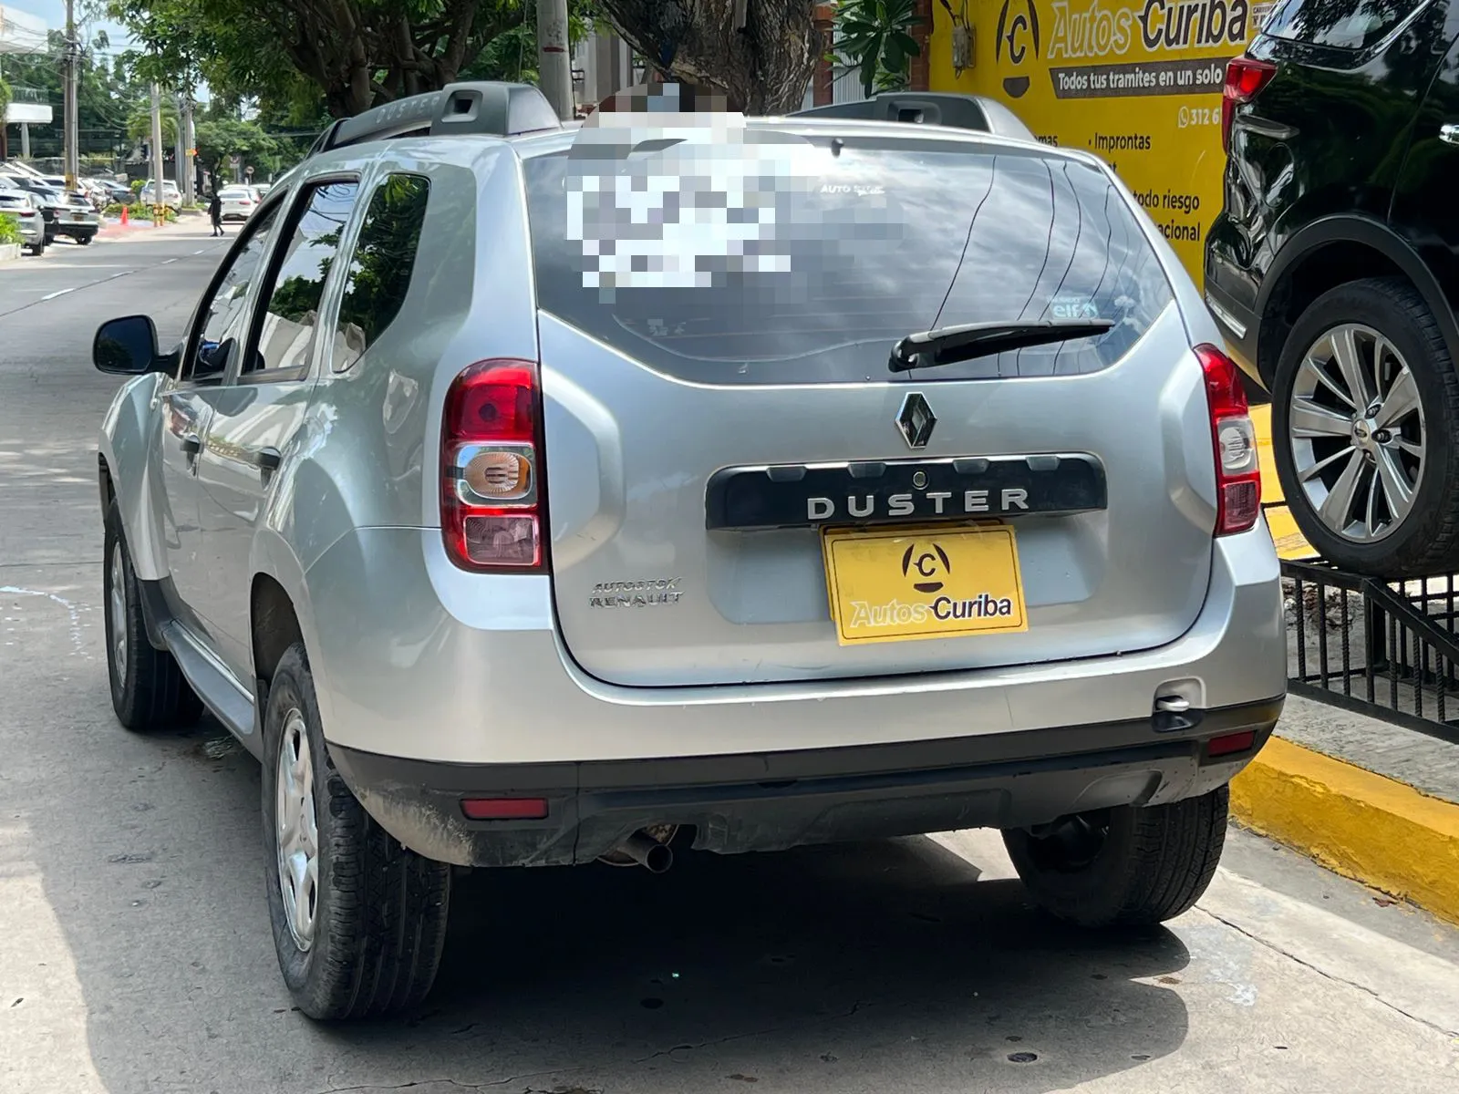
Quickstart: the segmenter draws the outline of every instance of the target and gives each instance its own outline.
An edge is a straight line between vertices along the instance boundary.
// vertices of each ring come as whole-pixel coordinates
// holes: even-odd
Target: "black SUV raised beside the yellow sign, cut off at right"
[[[1459,0],[1278,0],[1230,63],[1207,303],[1307,541],[1459,569]]]

